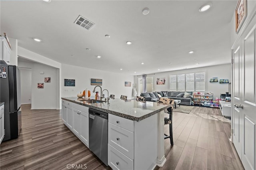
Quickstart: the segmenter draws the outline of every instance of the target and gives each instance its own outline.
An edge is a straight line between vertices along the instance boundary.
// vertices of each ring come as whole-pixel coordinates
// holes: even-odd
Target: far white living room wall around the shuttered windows
[[[186,70],[178,70],[178,71],[168,71],[162,73],[156,73],[153,76],[154,81],[154,91],[170,91],[170,78],[169,76],[172,74],[179,74],[179,73],[190,73],[190,72],[197,72],[197,71],[206,71],[206,91],[205,92],[212,92],[214,94],[214,99],[216,97],[220,98],[220,93],[228,92],[228,84],[220,84],[219,82],[210,83],[210,79],[212,77],[218,77],[220,79],[229,79],[231,80],[231,64],[224,64],[224,65],[214,65],[209,67],[200,67],[195,69],[186,69]],[[156,85],[156,78],[166,78],[165,85]],[[138,89],[138,77],[134,76],[134,82],[137,84]],[[138,94],[140,95],[140,94]]]

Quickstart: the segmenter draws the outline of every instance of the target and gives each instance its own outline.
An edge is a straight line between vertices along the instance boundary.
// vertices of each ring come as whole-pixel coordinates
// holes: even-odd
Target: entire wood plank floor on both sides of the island
[[[22,105],[19,138],[0,145],[1,170],[59,170],[68,164],[86,164],[88,170],[111,169],[62,123],[61,110],[30,107]],[[219,109],[194,107],[190,114],[174,112],[173,122],[174,146],[165,140],[167,161],[156,170],[244,169],[228,140],[230,120],[221,117]]]

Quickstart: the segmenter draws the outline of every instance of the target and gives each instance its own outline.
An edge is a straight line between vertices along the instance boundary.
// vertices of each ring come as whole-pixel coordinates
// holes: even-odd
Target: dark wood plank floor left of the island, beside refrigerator
[[[111,169],[106,167],[63,123],[61,110],[30,110],[22,105],[19,138],[0,145],[1,170]],[[80,168],[79,168],[80,166]],[[71,166],[69,165],[68,168]]]

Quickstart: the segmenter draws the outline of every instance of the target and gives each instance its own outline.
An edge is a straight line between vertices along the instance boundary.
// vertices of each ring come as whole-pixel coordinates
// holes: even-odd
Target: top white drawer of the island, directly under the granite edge
[[[119,117],[116,115],[108,114],[108,122],[118,126],[125,128],[126,130],[130,130],[134,132],[134,121],[125,119],[123,117]]]

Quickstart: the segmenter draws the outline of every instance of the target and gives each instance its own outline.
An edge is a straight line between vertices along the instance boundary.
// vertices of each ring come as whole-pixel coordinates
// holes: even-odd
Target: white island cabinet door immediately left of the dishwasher
[[[89,146],[89,113],[85,113],[81,111],[80,125],[81,125],[80,138],[87,146]]]

